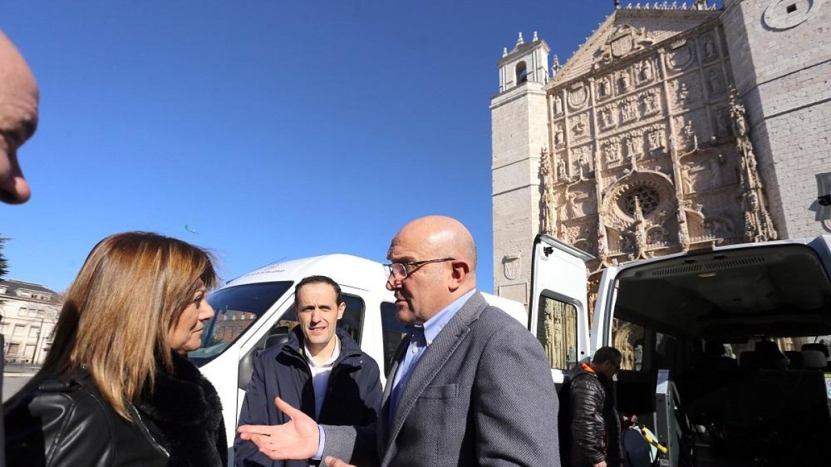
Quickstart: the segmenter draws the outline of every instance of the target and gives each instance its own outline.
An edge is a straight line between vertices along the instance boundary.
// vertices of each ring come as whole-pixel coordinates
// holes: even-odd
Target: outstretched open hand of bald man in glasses
[[[272,460],[303,460],[317,454],[317,423],[279,397],[274,398],[274,406],[291,420],[283,425],[242,425],[237,429],[239,437],[257,445]]]

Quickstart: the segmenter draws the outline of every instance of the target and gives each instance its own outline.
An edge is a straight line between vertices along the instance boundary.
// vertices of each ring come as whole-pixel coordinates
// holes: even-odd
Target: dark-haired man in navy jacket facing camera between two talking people
[[[311,276],[294,288],[294,312],[300,322],[288,342],[263,351],[254,364],[239,425],[279,425],[288,417],[274,406],[279,396],[327,425],[374,423],[381,405],[380,372],[349,334],[337,329],[346,303],[331,278]],[[305,467],[307,460],[269,460],[237,435],[238,467]]]

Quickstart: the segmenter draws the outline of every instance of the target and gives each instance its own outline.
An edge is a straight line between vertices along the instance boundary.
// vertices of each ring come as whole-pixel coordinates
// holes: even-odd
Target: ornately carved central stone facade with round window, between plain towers
[[[610,17],[546,86],[540,231],[597,257],[590,282],[609,265],[777,237],[720,22],[678,13],[698,24]]]

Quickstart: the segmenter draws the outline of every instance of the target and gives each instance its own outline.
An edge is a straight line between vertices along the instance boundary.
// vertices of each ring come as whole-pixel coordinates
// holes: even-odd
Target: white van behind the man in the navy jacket
[[[328,276],[340,284],[347,309],[338,326],[378,362],[384,383],[404,327],[396,320],[395,298],[386,290],[381,263],[347,254],[328,254],[274,263],[245,274],[208,298],[216,314],[205,324],[203,347],[189,353],[219,393],[229,446],[234,443],[253,362],[264,348],[286,342],[288,330],[297,323],[291,310],[294,285],[312,275]],[[527,322],[521,303],[483,295],[519,322]],[[233,450],[229,454],[230,459]],[[229,464],[233,465],[233,460]]]

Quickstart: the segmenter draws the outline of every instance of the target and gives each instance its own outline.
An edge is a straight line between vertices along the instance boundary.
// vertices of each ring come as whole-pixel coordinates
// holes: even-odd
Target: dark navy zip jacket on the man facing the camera
[[[274,406],[274,397],[302,410],[325,425],[365,426],[375,423],[381,406],[378,364],[366,355],[351,336],[337,329],[341,354],[329,375],[326,398],[315,417],[312,372],[303,355],[303,335],[294,327],[288,342],[266,349],[254,363],[253,376],[245,392],[238,425],[281,425],[288,417]],[[269,460],[257,446],[237,435],[234,465],[238,467],[306,467],[305,460]]]

